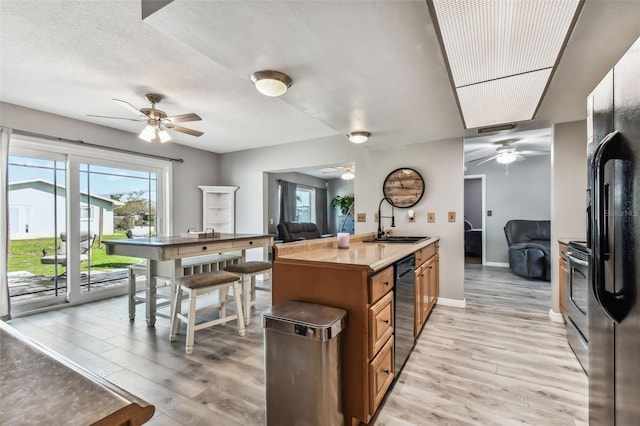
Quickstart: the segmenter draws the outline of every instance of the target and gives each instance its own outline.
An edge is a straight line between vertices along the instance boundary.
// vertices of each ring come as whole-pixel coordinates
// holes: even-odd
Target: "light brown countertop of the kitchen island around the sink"
[[[417,243],[363,242],[375,233],[352,235],[349,248],[338,248],[337,237],[281,243],[274,245],[275,261],[362,267],[378,272],[418,250],[434,244],[439,237],[429,237]]]

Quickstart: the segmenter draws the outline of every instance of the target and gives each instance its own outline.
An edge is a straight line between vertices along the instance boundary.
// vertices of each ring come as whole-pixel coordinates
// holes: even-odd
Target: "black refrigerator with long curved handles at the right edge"
[[[640,425],[640,38],[587,98],[589,424]]]

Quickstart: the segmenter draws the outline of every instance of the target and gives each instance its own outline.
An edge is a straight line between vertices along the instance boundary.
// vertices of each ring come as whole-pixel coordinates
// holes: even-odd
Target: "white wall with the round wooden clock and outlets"
[[[312,153],[312,154],[311,154]],[[355,212],[365,213],[366,222],[356,222],[356,233],[373,232],[373,221],[382,199],[382,183],[389,172],[411,167],[425,180],[425,195],[413,207],[416,221],[409,223],[406,209],[396,209],[396,234],[439,236],[440,295],[447,299],[464,299],[463,249],[463,154],[462,140],[429,142],[370,150],[350,144],[342,136],[327,137],[295,144],[223,154],[221,156],[222,185],[237,185],[238,232],[264,232],[266,210],[261,202],[266,198],[265,171],[320,167],[336,163],[355,163]],[[266,204],[264,204],[266,206]],[[388,214],[388,205],[383,205]],[[447,222],[447,212],[456,213],[458,221]],[[427,223],[427,212],[436,213],[436,222]],[[389,221],[383,222],[385,227]]]

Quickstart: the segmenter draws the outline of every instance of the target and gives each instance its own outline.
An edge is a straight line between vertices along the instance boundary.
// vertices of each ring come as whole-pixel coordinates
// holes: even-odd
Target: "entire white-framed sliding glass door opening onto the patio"
[[[102,242],[166,234],[170,163],[11,142],[12,312],[124,294],[127,267],[143,259],[107,255]]]

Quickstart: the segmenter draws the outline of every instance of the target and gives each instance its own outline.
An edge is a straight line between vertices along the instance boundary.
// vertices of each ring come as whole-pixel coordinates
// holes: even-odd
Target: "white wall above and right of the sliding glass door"
[[[140,153],[182,158],[173,163],[173,229],[179,233],[202,227],[202,191],[198,185],[218,185],[220,156],[175,143],[149,144],[136,134],[0,102],[0,125],[50,136]],[[206,138],[204,135],[202,138]]]

